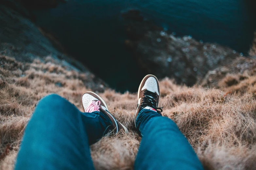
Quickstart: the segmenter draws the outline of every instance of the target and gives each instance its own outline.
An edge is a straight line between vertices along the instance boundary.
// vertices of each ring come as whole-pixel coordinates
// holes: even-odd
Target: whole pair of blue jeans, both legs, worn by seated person
[[[176,124],[154,113],[144,109],[137,117],[143,137],[135,169],[203,169]],[[15,169],[94,169],[89,146],[112,128],[105,114],[83,113],[66,99],[48,95],[26,127]]]

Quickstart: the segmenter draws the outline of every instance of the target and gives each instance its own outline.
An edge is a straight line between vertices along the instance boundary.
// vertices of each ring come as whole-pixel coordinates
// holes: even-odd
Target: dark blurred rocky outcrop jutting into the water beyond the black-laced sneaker
[[[198,42],[191,36],[177,37],[145,21],[137,10],[123,14],[128,40],[145,71],[159,78],[175,78],[177,83],[192,86],[208,70],[228,64],[238,56],[234,50],[218,44]]]

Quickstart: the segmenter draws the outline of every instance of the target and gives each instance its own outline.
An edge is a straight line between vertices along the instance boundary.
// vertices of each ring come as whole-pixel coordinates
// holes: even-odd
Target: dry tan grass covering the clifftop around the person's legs
[[[91,89],[85,87],[85,74],[52,62],[22,64],[1,56],[0,63],[5,63],[0,64],[0,149],[4,153],[8,144],[13,148],[2,158],[0,168],[13,169],[24,128],[38,100],[58,93],[82,110],[80,96]],[[230,91],[231,87],[243,88],[239,84],[219,90],[179,86],[168,78],[160,82],[163,115],[177,123],[205,169],[256,168],[256,87],[250,82],[243,93]],[[137,95],[109,89],[99,95],[130,132],[105,136],[91,146],[95,168],[133,169],[141,140],[132,131]]]

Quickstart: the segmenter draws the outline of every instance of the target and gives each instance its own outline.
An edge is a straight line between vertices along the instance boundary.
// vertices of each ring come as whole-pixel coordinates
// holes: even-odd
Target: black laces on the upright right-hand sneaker
[[[150,92],[148,90],[145,90],[144,97],[142,98],[142,104],[140,106],[141,106],[141,108],[144,108],[146,106],[152,107],[159,114],[161,114],[161,112],[163,111],[162,107],[157,107],[157,94]]]

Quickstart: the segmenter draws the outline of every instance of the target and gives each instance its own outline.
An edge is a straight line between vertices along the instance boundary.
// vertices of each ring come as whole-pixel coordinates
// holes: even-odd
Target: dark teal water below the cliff
[[[145,73],[125,48],[121,12],[142,11],[147,19],[177,35],[216,42],[247,53],[256,29],[255,3],[247,0],[69,0],[35,11],[65,50],[112,88],[136,91]]]

